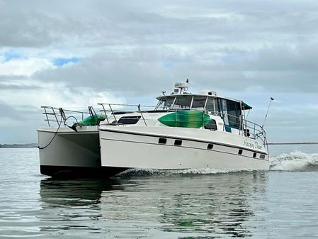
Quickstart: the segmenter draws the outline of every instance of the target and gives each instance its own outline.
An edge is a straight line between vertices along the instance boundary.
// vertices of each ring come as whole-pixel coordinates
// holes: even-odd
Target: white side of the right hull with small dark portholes
[[[194,128],[101,126],[99,135],[104,167],[269,168],[266,149],[260,142],[232,133]],[[159,138],[166,138],[166,143],[159,143]],[[182,140],[181,145],[175,145],[175,140]],[[209,144],[212,149],[208,149]],[[253,145],[258,145],[257,150]]]

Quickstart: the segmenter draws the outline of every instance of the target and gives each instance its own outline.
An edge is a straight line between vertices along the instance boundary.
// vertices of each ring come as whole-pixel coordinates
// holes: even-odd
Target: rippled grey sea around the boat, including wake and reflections
[[[273,146],[268,172],[63,181],[38,149],[0,148],[0,238],[317,238],[318,148],[294,150]]]

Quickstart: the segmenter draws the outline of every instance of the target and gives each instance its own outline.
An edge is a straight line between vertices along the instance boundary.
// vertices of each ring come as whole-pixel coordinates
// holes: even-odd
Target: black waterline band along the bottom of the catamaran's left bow
[[[40,165],[41,174],[54,178],[109,178],[127,170],[127,167],[72,167]]]

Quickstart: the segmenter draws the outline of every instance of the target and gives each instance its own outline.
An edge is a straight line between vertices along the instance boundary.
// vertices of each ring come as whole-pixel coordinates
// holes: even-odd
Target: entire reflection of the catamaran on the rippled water
[[[108,238],[222,238],[253,235],[264,209],[266,172],[147,175],[40,183],[42,231]],[[84,233],[84,234],[81,234]],[[73,234],[72,234],[73,235]]]

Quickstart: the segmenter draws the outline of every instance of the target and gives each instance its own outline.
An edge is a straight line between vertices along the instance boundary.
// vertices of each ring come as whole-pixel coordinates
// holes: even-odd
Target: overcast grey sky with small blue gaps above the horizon
[[[0,143],[37,142],[40,106],[155,104],[192,92],[243,99],[269,142],[318,141],[318,3],[1,1]]]

